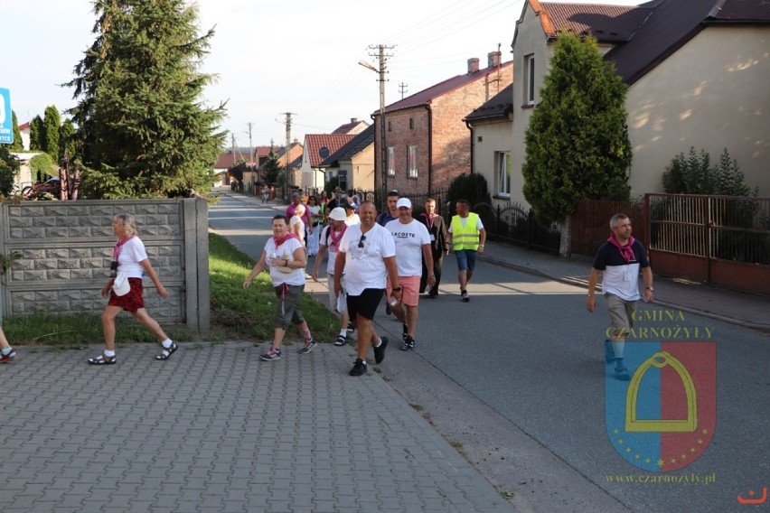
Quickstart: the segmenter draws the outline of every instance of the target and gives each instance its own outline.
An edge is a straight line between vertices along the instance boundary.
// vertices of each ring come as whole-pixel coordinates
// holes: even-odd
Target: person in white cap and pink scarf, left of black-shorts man
[[[340,334],[337,336],[337,340],[334,340],[335,346],[344,346],[348,343],[348,305],[345,299],[345,283],[344,276],[341,280],[343,290],[339,294],[334,291],[334,263],[337,261],[337,251],[340,249],[340,243],[343,240],[343,235],[348,225],[345,224],[345,210],[342,207],[337,207],[329,214],[330,225],[325,227],[321,232],[321,239],[319,241],[318,256],[315,258],[315,266],[313,267],[313,279],[318,281],[318,270],[321,267],[321,262],[324,261],[324,254],[326,248],[329,249],[329,259],[326,264],[326,285],[329,288],[329,306],[332,307],[334,312],[340,314]]]

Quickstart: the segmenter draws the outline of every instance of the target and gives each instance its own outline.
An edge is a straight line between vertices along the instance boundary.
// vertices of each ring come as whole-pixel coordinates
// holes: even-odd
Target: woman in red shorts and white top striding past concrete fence
[[[117,214],[112,219],[112,231],[117,235],[118,240],[112,252],[111,276],[101,288],[101,295],[109,296],[107,307],[101,313],[104,352],[97,357],[89,358],[89,363],[109,365],[117,362],[115,356],[115,318],[118,313],[124,310],[130,312],[136,322],[151,331],[161,342],[162,351],[155,359],[169,359],[174,351],[179,349],[179,346],[166,336],[163,328],[145,310],[145,300],[142,297],[144,292],[142,276],[149,276],[155,284],[155,290],[162,298],[167,298],[168,292],[150,264],[145,244],[136,231],[136,219],[131,214]],[[122,285],[114,287],[116,280],[118,285],[121,283]],[[122,294],[118,295],[117,292]]]

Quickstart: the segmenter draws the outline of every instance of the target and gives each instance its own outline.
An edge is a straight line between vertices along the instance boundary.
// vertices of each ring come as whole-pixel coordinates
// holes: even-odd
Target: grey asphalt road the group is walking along
[[[223,198],[210,226],[257,258],[274,214]],[[521,511],[770,509],[770,500],[737,501],[770,488],[770,336],[676,314],[669,325],[698,328],[700,338],[674,341],[717,344],[716,430],[681,470],[642,471],[615,452],[606,430],[606,311],[587,313],[580,287],[484,262],[462,303],[455,273],[450,255],[438,299],[420,301],[416,350],[391,351],[383,378]],[[384,305],[376,321],[400,336]]]

